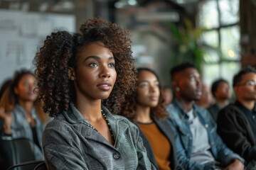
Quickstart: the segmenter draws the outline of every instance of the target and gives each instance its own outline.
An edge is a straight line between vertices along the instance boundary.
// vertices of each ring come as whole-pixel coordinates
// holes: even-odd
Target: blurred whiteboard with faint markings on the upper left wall
[[[0,85],[17,69],[33,70],[33,57],[54,30],[75,32],[75,16],[0,10]]]

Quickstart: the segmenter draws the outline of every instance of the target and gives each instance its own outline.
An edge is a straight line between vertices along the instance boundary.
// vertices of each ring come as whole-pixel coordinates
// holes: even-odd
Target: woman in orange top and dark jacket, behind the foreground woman
[[[153,70],[137,69],[137,89],[132,98],[127,98],[121,115],[139,127],[148,157],[158,169],[178,169],[174,135],[166,120],[160,88]]]

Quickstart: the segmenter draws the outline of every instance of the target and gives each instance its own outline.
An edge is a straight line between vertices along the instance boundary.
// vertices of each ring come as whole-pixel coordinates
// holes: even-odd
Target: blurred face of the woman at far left
[[[35,88],[35,77],[32,74],[24,74],[18,81],[18,86],[15,87],[14,92],[19,101],[36,101],[38,94],[34,93]]]

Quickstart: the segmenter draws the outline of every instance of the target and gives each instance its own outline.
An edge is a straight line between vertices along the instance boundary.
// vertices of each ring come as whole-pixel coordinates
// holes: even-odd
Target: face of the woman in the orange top
[[[154,108],[159,103],[160,89],[156,75],[144,70],[138,74],[137,103]]]

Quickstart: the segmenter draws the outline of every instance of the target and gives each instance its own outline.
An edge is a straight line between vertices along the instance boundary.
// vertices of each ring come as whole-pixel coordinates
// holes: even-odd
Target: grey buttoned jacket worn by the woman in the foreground
[[[43,133],[48,169],[151,169],[136,125],[102,106],[114,135],[112,146],[88,126],[73,103],[70,106],[70,111],[54,118]]]

